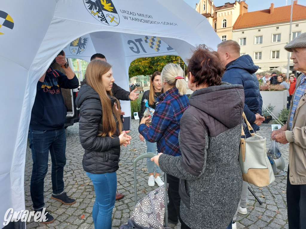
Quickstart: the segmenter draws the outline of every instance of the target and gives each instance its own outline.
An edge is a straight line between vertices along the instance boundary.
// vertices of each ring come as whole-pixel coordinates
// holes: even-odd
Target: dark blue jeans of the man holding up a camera
[[[30,148],[33,168],[31,176],[31,198],[34,210],[45,206],[43,201],[44,179],[48,171],[49,151],[51,155],[51,181],[53,194],[64,192],[64,166],[66,164],[65,129],[33,130],[30,129]]]

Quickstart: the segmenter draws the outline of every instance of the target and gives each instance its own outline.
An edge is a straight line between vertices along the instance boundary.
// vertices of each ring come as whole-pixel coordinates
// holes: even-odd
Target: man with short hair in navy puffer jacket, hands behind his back
[[[252,57],[249,55],[240,56],[240,45],[233,40],[227,40],[218,44],[218,53],[222,64],[225,67],[225,72],[222,76],[223,82],[230,84],[241,84],[244,88],[244,114],[251,123],[254,131],[259,130],[259,125],[265,120],[261,116],[263,100],[259,93],[259,83],[255,72],[258,66],[254,65]],[[244,129],[245,137],[248,138],[251,134],[246,127]],[[240,205],[233,217],[233,228],[236,228],[237,213],[247,214],[246,203],[248,201],[248,183],[243,181]]]

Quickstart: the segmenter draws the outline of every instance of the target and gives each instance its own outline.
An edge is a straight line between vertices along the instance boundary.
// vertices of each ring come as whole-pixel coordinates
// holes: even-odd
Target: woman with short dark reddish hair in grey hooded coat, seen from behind
[[[188,60],[194,92],[180,123],[181,156],[152,158],[162,171],[180,178],[180,214],[192,229],[231,225],[242,190],[238,162],[244,90],[221,82],[218,53],[200,45]]]

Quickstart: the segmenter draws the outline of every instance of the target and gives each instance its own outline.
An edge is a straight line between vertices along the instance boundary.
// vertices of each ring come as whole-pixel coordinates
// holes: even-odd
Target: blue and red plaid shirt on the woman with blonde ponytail
[[[179,156],[181,155],[178,143],[180,119],[189,107],[188,97],[181,96],[174,87],[159,96],[157,101],[152,124],[150,127],[141,124],[138,131],[149,142],[157,142],[159,153]]]

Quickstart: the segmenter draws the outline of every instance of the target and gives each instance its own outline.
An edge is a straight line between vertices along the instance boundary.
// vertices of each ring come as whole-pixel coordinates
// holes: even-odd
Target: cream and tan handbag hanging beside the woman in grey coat
[[[244,113],[242,117],[251,133],[251,137],[245,138],[243,127],[241,127],[239,163],[242,179],[257,187],[267,186],[275,180],[275,177],[266,153],[266,138],[254,133]]]

